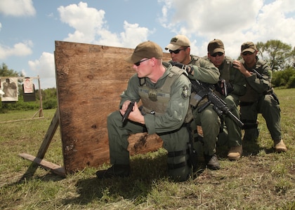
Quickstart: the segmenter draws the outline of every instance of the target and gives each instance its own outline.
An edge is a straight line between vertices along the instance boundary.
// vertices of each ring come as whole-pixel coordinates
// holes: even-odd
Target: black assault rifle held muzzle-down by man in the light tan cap
[[[178,66],[179,68],[187,72],[188,72],[187,70],[188,68],[189,70],[190,68],[192,68],[192,66],[186,66],[178,62],[170,62],[170,63],[173,66]],[[202,112],[204,109],[206,109],[206,107],[209,106],[210,104],[213,104],[214,105],[213,109],[214,111],[216,111],[218,116],[221,117],[223,114],[225,114],[225,116],[230,117],[240,127],[244,125],[244,123],[242,123],[242,121],[230,111],[230,108],[226,106],[226,103],[223,101],[223,99],[218,97],[218,95],[216,95],[212,91],[213,89],[211,87],[204,87],[204,85],[202,85],[202,83],[200,83],[199,80],[190,79],[190,83],[192,83],[192,92],[195,92],[195,95],[193,97],[195,97],[197,102],[201,102],[202,99],[204,99],[205,97],[208,99],[208,102],[206,102],[205,104],[203,104],[197,109],[199,113]]]

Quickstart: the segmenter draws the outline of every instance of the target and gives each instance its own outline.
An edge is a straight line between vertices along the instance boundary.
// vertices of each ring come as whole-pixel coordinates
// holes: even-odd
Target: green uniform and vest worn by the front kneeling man
[[[188,113],[191,85],[183,70],[163,62],[166,69],[157,83],[134,74],[127,89],[121,94],[120,107],[126,100],[143,103],[145,125],[127,120],[122,125],[122,116],[114,111],[107,117],[112,165],[129,165],[128,137],[130,134],[147,132],[158,134],[163,147],[168,151],[168,172],[172,179],[184,181],[191,168],[188,165],[188,141],[190,139],[185,116]],[[178,73],[176,73],[178,71]]]

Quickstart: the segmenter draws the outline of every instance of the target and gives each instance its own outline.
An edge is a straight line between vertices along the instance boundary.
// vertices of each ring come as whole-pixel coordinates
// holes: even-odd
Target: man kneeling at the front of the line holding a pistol
[[[119,111],[107,117],[112,167],[98,171],[98,178],[129,176],[130,134],[147,132],[158,134],[168,151],[168,174],[174,181],[185,181],[190,176],[188,142],[190,135],[185,123],[189,111],[191,84],[182,69],[162,62],[162,48],[152,41],[136,46],[126,62],[133,64],[136,73],[130,78],[127,89],[121,94]],[[141,100],[143,106],[138,107]],[[128,120],[122,116],[130,102],[135,102]],[[188,120],[188,121],[186,121]]]

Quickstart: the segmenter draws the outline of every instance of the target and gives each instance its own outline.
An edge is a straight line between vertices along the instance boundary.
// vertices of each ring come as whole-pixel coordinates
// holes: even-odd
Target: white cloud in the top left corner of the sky
[[[0,13],[11,16],[34,16],[32,0],[0,0]]]

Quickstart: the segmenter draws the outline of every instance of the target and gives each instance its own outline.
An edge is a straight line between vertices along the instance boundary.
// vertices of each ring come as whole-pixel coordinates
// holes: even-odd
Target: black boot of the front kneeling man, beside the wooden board
[[[99,179],[107,179],[112,177],[126,177],[130,175],[129,165],[112,165],[109,169],[96,172]]]

